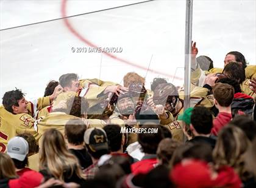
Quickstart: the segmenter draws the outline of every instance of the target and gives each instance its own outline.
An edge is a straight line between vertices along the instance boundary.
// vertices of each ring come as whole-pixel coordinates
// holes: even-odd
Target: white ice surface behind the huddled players
[[[140,1],[68,1],[67,15],[77,15]],[[62,1],[0,1],[0,28],[61,18]],[[242,52],[256,62],[255,1],[194,1],[193,40],[199,55],[223,67],[227,52]],[[122,47],[114,55],[135,64],[183,78],[185,1],[151,1],[68,18],[74,29],[99,47]],[[149,88],[160,74],[137,69],[101,53],[72,53],[87,47],[63,19],[0,31],[0,96],[22,89],[27,98],[42,96],[46,84],[63,73],[122,82],[125,73],[146,76]],[[102,59],[102,60],[101,60]],[[181,67],[181,68],[179,68]],[[176,71],[177,70],[177,71]],[[180,79],[169,81],[182,85]],[[1,99],[0,99],[1,102]]]

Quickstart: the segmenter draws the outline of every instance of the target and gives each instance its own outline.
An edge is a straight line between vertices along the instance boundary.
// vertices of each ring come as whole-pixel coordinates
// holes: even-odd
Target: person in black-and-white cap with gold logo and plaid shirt
[[[102,155],[108,154],[108,139],[103,129],[90,128],[85,131],[84,141],[93,161],[93,164],[84,170],[85,178],[89,180],[93,179],[94,175],[99,170],[99,158],[101,158]]]

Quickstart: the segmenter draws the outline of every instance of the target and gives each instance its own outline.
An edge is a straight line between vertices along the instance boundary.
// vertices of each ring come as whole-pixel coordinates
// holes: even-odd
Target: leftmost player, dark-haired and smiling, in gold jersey
[[[38,108],[49,104],[50,99],[38,99]],[[6,144],[10,138],[13,138],[18,133],[29,132],[38,140],[40,135],[34,129],[35,119],[30,116],[29,103],[24,98],[24,93],[21,90],[12,90],[4,93],[2,98],[3,106],[0,106],[0,149],[4,152]],[[33,107],[30,109],[34,109]],[[30,112],[33,112],[31,110]]]

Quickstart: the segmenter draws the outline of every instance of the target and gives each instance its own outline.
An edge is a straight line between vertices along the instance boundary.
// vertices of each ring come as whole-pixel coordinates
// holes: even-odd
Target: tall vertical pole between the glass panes
[[[190,107],[190,73],[193,0],[186,0],[184,110]]]

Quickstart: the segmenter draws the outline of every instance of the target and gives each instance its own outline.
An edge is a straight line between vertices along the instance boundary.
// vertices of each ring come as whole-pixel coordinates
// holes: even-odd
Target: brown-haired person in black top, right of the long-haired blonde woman
[[[84,146],[86,129],[84,121],[80,119],[70,119],[65,125],[65,138],[68,140],[68,150],[77,157],[82,170],[93,164],[91,156]]]

